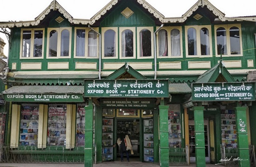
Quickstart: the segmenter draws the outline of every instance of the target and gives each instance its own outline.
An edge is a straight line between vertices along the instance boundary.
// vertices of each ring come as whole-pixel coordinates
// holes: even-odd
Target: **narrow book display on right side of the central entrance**
[[[153,119],[144,120],[144,161],[154,162],[154,126]]]

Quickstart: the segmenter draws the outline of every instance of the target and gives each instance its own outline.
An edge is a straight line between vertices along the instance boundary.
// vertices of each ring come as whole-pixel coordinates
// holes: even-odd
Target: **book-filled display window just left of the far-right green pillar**
[[[235,111],[225,109],[221,112],[222,146],[225,148],[237,148]]]

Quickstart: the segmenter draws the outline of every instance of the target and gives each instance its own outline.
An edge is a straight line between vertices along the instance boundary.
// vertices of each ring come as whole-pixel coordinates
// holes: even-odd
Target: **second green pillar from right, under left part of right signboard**
[[[196,167],[206,167],[205,144],[204,144],[204,122],[202,106],[194,107],[195,120],[195,164]]]

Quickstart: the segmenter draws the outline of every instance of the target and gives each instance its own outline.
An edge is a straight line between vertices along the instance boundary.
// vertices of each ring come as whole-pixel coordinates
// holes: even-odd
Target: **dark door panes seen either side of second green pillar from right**
[[[210,162],[209,121],[204,121],[205,161]],[[195,162],[195,122],[189,121],[189,159]]]

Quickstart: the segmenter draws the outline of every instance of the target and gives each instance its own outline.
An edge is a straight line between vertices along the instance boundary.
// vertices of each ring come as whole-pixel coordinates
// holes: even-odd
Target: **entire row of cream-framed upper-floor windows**
[[[242,55],[241,25],[216,25],[216,55]],[[47,58],[71,57],[71,27],[48,28]],[[75,28],[74,58],[97,58],[99,37],[88,28]],[[109,28],[102,32],[103,58],[152,58],[153,29],[135,27]],[[117,40],[119,36],[119,40]],[[212,56],[211,26],[185,26],[186,55]],[[135,41],[137,39],[137,42]],[[182,57],[182,28],[162,28],[157,33],[159,58]],[[119,45],[117,44],[119,43]],[[137,44],[137,46],[135,46]],[[118,47],[119,46],[119,47]],[[137,52],[136,49],[137,48]],[[23,29],[21,33],[21,58],[42,58],[44,53],[44,29]]]

